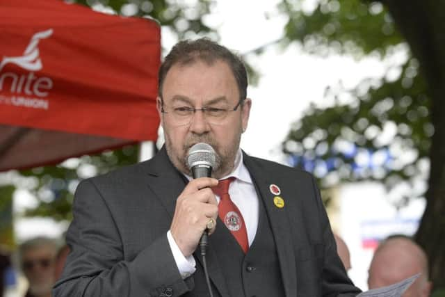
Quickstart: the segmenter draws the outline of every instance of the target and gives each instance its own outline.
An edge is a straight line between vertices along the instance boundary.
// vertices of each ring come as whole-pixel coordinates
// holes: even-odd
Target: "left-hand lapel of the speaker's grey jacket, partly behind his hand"
[[[165,207],[168,214],[170,214],[171,220],[175,214],[176,200],[184,190],[184,186],[186,186],[187,183],[185,177],[182,176],[170,162],[165,147],[162,147],[156,156],[154,156],[154,158],[147,163],[147,166],[145,166],[145,171],[148,174],[147,183],[149,188],[156,195],[156,198],[161,202],[163,207]],[[219,223],[223,224],[223,222]],[[212,237],[215,235],[216,234],[213,234]],[[197,259],[197,262],[202,266],[199,246],[193,255],[195,256],[195,259]],[[213,284],[215,284],[215,287],[218,289],[221,296],[229,296],[223,271],[221,271],[218,265],[216,251],[209,247],[206,255],[207,268],[211,281]]]

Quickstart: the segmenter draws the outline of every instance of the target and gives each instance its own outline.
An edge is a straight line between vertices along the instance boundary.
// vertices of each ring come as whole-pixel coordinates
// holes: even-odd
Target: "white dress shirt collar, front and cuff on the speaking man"
[[[236,207],[238,207],[239,211],[241,211],[241,215],[243,216],[245,228],[248,233],[248,243],[249,246],[252,245],[252,242],[255,238],[255,234],[257,233],[258,227],[258,216],[259,216],[259,200],[257,196],[257,191],[255,191],[254,184],[252,182],[252,178],[248,172],[248,169],[245,168],[243,163],[243,153],[241,149],[238,150],[238,154],[236,154],[234,170],[225,177],[221,179],[226,179],[229,177],[235,177],[236,179],[230,183],[229,186],[229,195],[230,199]],[[187,176],[188,180],[192,178]],[[216,196],[216,201],[219,203],[220,198],[218,195]],[[218,228],[218,225],[216,226]],[[223,227],[223,226],[219,226]],[[196,263],[193,255],[189,257],[184,257],[182,255],[181,250],[177,246],[175,239],[168,230],[167,232],[168,243],[170,244],[170,249],[172,250],[173,257],[175,257],[175,262],[178,266],[179,273],[181,273],[182,278],[188,278],[196,271]]]

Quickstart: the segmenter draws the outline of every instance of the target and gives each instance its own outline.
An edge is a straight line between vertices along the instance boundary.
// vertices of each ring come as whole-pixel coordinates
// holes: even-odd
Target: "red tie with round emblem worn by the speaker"
[[[235,177],[229,177],[228,179],[222,179],[219,181],[218,186],[212,189],[213,193],[220,196],[220,204],[218,204],[218,216],[224,222],[227,229],[235,236],[236,241],[243,249],[244,253],[248,251],[248,234],[245,231],[245,223],[241,211],[232,202],[229,195],[229,185],[235,179]]]

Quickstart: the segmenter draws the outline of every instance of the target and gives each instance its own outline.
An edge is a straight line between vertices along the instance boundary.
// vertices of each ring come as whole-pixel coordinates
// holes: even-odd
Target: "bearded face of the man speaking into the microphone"
[[[220,168],[214,177],[227,175],[234,166],[241,134],[247,128],[251,101],[245,99],[243,106],[229,112],[223,122],[210,123],[202,111],[196,111],[187,125],[178,125],[172,117],[174,107],[233,109],[239,101],[239,91],[229,65],[215,61],[211,65],[196,61],[188,65],[173,65],[163,82],[163,104],[168,113],[158,111],[165,134],[167,153],[181,172],[190,175],[186,156],[195,143],[208,143],[220,159]]]

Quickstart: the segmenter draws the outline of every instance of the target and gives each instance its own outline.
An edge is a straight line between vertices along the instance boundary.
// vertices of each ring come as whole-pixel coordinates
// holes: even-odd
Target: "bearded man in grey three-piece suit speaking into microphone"
[[[209,296],[197,250],[206,229],[213,296],[359,293],[314,179],[240,150],[247,84],[243,63],[225,47],[207,39],[173,47],[159,70],[165,147],[79,184],[72,252],[54,296]],[[196,143],[216,151],[212,178],[191,179],[186,156]]]

